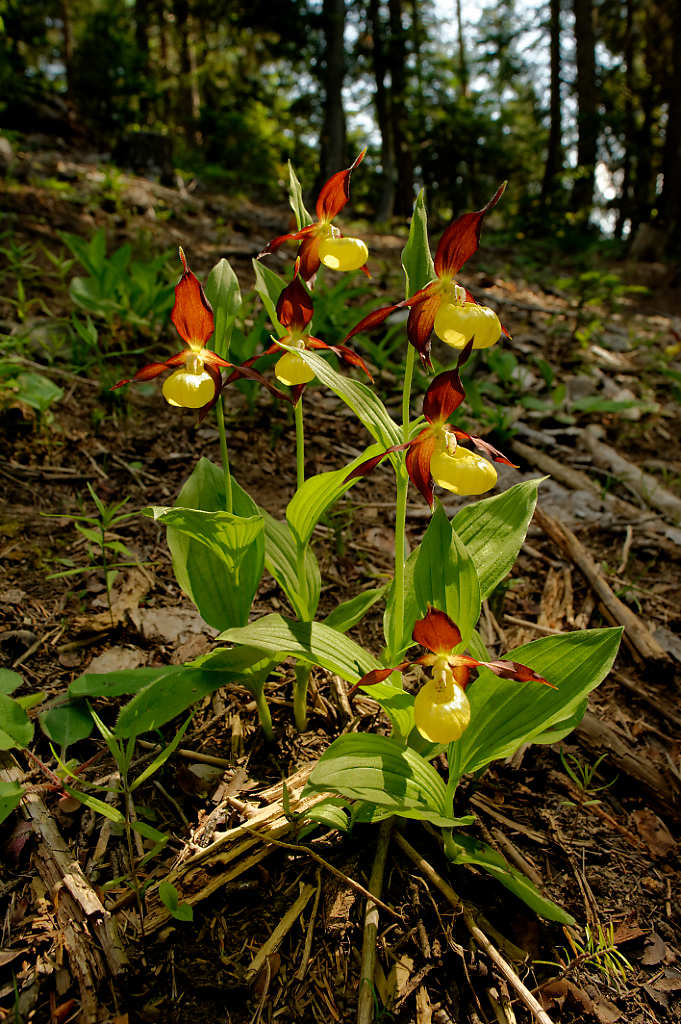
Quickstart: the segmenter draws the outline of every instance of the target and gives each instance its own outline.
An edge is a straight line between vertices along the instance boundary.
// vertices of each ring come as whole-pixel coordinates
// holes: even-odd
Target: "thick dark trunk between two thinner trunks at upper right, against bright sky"
[[[594,200],[598,146],[598,94],[593,0],[572,0],[577,56],[578,143],[572,210],[588,221]]]

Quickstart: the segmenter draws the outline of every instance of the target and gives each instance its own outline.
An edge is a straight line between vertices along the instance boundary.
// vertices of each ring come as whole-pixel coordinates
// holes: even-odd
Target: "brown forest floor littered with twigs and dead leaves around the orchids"
[[[245,287],[253,279],[251,257],[287,229],[288,213],[284,205],[179,193],[127,175],[118,175],[112,195],[94,160],[46,151],[27,159],[27,173],[0,182],[2,245],[11,238],[33,248],[43,273],[27,289],[44,307],[36,304],[19,321],[16,305],[5,301],[4,355],[7,336],[25,336],[30,324],[34,341],[19,352],[23,365],[41,367],[63,395],[39,417],[5,393],[0,412],[0,652],[2,666],[23,676],[17,694],[40,691],[47,701],[86,670],[182,664],[210,649],[215,631],[179,592],[165,538],[148,519],[135,516],[118,530],[140,567],[119,573],[112,614],[101,571],[48,578],[62,566],[59,559],[88,564],[87,545],[68,518],[91,509],[88,482],[105,502],[129,496],[130,509],[169,505],[197,460],[217,462],[219,449],[210,419],[197,426],[196,417],[172,410],[151,388],[129,388],[113,400],[96,367],[44,357],[48,321],[70,309],[41,247],[62,252],[57,231],[89,237],[105,225],[116,245],[143,243],[159,253],[181,243],[199,276],[226,256]],[[368,238],[376,304],[394,294],[386,289],[396,279],[386,279],[385,268],[398,264],[405,237]],[[543,255],[534,265],[541,265],[541,285],[530,278],[529,259],[523,271],[513,249],[485,244],[483,232],[480,253],[462,274],[499,310],[513,339],[504,349],[514,358],[495,364],[485,397],[487,408],[503,403],[506,418],[494,439],[519,464],[500,474],[500,487],[549,476],[509,585],[485,605],[483,638],[499,655],[554,632],[618,623],[627,631],[582,726],[560,743],[523,749],[467,779],[459,805],[472,807],[475,835],[572,913],[584,948],[570,947],[565,930],[541,922],[487,877],[448,865],[435,834],[410,822],[388,846],[382,899],[392,912],[380,910],[376,940],[381,1021],[533,1019],[471,938],[470,914],[548,1019],[681,1021],[681,354],[674,334],[681,288],[661,265],[599,267],[649,291],[613,295],[606,283],[596,304],[580,308],[574,291],[555,284],[574,271],[554,272]],[[15,285],[5,266],[5,297],[16,294]],[[583,344],[580,330],[589,335]],[[171,334],[169,328],[155,345],[158,357],[174,350]],[[117,366],[121,376],[147,361],[132,348],[127,359]],[[392,387],[394,404],[396,373],[387,362],[376,374],[379,389]],[[311,395],[308,474],[343,465],[367,443],[364,428],[333,395]],[[237,479],[283,516],[295,488],[291,416],[266,393],[250,408],[238,391],[229,394],[227,416]],[[389,575],[392,504],[390,474],[377,471],[315,532],[323,613]],[[452,497],[443,504],[449,513],[458,507]],[[413,492],[413,542],[426,523],[427,508]],[[289,613],[265,575],[254,615],[272,610]],[[380,613],[370,613],[354,636],[378,653]],[[40,730],[30,751],[3,755],[4,771],[18,773],[29,797],[0,825],[0,1020],[355,1020],[366,903],[356,884],[368,885],[379,829],[322,829],[298,844],[287,825],[282,780],[291,779],[295,810],[306,772],[329,742],[349,728],[382,728],[382,719],[369,696],[348,707],[344,690],[317,671],[309,729],[299,734],[292,677],[286,665],[267,684],[273,744],[263,741],[251,695],[225,685],[199,706],[181,748],[136,794],[138,813],[171,837],[139,870],[144,881],[158,881],[186,865],[183,892],[206,897],[196,900],[191,923],[157,906],[140,933],[125,884],[101,888],[126,873],[124,837],[59,792]],[[121,702],[94,706],[111,725]],[[164,734],[167,741],[173,728]],[[91,736],[69,756],[116,803],[103,741]],[[139,743],[133,774],[150,756],[150,744]],[[266,839],[239,830],[253,823],[270,829]],[[230,829],[232,841],[211,856],[213,834]],[[289,845],[278,846],[278,836]],[[464,897],[470,913],[409,859],[400,836]],[[111,916],[101,916],[101,903]]]

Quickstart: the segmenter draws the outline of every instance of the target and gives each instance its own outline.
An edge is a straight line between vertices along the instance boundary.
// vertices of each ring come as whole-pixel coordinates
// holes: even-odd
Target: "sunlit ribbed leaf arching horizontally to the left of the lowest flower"
[[[322,623],[297,623],[283,615],[264,615],[242,629],[225,630],[218,640],[284,652],[335,672],[348,683],[356,683],[372,669],[380,668],[375,657],[344,634]]]

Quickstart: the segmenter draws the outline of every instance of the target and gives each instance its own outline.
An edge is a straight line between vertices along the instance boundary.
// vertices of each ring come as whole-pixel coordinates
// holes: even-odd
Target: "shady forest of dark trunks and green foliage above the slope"
[[[0,0],[0,17],[5,131],[114,157],[137,135],[166,176],[261,201],[287,159],[318,186],[368,142],[355,215],[408,217],[425,185],[445,219],[508,178],[519,238],[681,247],[681,0]]]

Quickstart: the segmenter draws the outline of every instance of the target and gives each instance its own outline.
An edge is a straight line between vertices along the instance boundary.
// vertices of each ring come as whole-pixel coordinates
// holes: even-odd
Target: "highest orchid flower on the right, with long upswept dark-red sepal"
[[[477,251],[484,215],[497,205],[505,188],[506,182],[499,186],[481,210],[464,213],[450,224],[435,253],[435,281],[431,281],[410,298],[391,306],[383,306],[365,316],[350,331],[345,341],[360,331],[379,327],[396,309],[408,307],[409,340],[424,366],[432,369],[430,338],[433,330],[441,341],[454,348],[464,348],[471,340],[473,348],[487,348],[496,344],[502,334],[507,334],[494,310],[478,305],[470,292],[454,280],[464,263]]]

